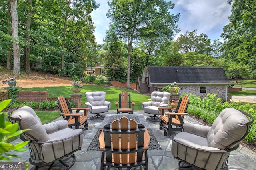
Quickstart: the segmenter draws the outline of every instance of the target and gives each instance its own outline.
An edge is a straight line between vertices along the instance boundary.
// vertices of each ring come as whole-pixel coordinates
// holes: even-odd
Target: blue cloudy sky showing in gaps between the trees
[[[100,7],[91,14],[96,27],[94,36],[98,44],[103,44],[110,23],[110,19],[106,17],[108,3],[107,0],[96,0],[96,2]],[[172,3],[175,7],[170,13],[180,13],[180,20],[177,23],[180,32],[176,38],[186,31],[197,30],[198,35],[204,33],[211,41],[222,40],[220,37],[222,28],[229,23],[228,16],[231,14],[231,5],[227,0],[172,0]]]

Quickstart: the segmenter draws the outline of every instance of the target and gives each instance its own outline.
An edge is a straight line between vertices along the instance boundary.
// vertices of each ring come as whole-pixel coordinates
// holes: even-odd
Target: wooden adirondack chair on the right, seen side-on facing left
[[[174,131],[182,131],[183,128],[183,118],[184,115],[187,115],[186,110],[188,108],[189,100],[188,96],[184,96],[180,98],[177,108],[165,108],[169,111],[171,109],[176,109],[175,113],[173,112],[166,112],[165,115],[161,115],[161,122],[159,124],[159,129],[164,129],[164,136],[171,136],[171,133]],[[164,109],[164,108],[162,108]],[[173,128],[172,125],[176,126]]]

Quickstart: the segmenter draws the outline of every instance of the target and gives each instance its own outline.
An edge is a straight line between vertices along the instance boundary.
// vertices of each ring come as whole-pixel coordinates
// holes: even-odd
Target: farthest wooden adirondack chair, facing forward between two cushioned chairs
[[[131,101],[131,94],[124,91],[119,94],[119,102],[116,102],[116,113],[131,113],[133,114],[134,102]]]

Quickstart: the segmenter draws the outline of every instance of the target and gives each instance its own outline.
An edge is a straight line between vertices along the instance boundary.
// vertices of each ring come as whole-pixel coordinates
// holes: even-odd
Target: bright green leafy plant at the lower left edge
[[[18,135],[22,134],[23,132],[30,130],[30,129],[18,130],[17,123],[12,124],[11,122],[5,121],[5,119],[4,119],[5,113],[2,112],[2,110],[4,110],[4,108],[6,108],[6,106],[8,106],[10,101],[11,100],[9,99],[9,100],[4,100],[0,103],[0,112],[1,112],[0,113],[0,154],[1,154],[0,161],[2,161],[2,160],[11,161],[11,159],[8,157],[20,158],[20,156],[18,156],[18,155],[7,153],[11,150],[15,150],[16,152],[24,152],[24,151],[28,150],[23,147],[26,146],[26,144],[28,144],[29,141],[21,142],[16,145],[6,142],[9,138],[18,136]],[[29,164],[28,164],[28,162],[26,162],[26,169],[28,169],[28,166],[29,166]]]

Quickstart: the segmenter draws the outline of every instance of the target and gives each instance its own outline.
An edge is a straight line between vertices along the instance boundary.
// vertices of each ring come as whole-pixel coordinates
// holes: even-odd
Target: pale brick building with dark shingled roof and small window
[[[143,77],[151,87],[177,82],[181,94],[194,93],[204,97],[210,93],[223,100],[227,100],[228,84],[231,84],[224,70],[216,67],[146,66]]]

